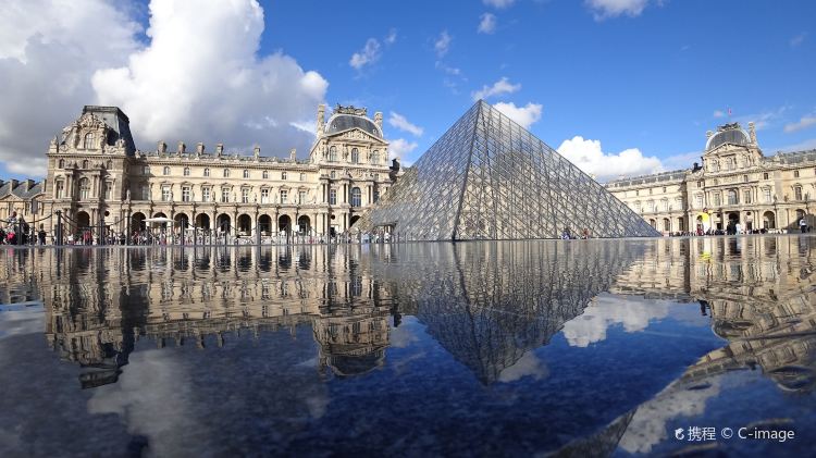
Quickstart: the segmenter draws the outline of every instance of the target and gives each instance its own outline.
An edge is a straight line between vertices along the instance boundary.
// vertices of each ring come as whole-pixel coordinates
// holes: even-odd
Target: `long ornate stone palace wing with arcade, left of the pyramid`
[[[175,231],[198,227],[238,236],[297,232],[343,233],[392,184],[382,113],[337,106],[325,120],[318,108],[317,136],[306,160],[227,152],[222,144],[175,151],[159,141],[136,149],[125,113],[86,106],[48,149],[48,177],[38,213],[61,210],[71,231],[114,233],[145,228],[145,220],[173,220]],[[46,224],[53,227],[55,218]],[[30,220],[29,220],[30,221]]]

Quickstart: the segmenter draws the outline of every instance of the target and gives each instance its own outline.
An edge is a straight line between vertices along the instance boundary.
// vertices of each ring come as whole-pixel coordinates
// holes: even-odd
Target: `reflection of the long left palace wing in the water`
[[[51,265],[37,278],[46,335],[84,368],[83,387],[115,382],[139,338],[203,348],[312,324],[321,364],[342,375],[382,364],[388,344],[390,295],[355,269],[354,249],[17,252]]]

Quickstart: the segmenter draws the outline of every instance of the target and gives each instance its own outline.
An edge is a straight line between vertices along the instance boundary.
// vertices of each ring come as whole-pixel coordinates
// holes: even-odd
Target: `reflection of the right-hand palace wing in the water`
[[[684,379],[756,367],[790,389],[816,386],[816,238],[662,239],[613,293],[695,300],[729,341]]]

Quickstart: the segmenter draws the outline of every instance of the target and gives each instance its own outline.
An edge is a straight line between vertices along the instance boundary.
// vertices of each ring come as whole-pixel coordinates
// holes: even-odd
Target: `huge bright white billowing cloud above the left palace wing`
[[[127,113],[137,143],[188,139],[246,149],[257,143],[267,154],[309,148],[313,137],[292,123],[313,115],[329,83],[282,52],[256,53],[264,29],[257,1],[153,0],[149,11],[150,42],[127,65],[92,77],[98,102]]]

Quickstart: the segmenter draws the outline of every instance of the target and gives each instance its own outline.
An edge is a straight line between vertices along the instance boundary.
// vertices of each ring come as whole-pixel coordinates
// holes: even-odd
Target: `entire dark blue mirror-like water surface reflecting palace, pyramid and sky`
[[[9,248],[0,456],[806,456],[815,271],[808,236]]]

